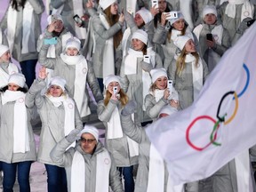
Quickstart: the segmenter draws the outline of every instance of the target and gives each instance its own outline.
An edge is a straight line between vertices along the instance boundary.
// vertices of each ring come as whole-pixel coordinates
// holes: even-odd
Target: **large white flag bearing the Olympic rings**
[[[202,180],[256,143],[256,22],[221,58],[194,103],[146,129],[174,184]]]

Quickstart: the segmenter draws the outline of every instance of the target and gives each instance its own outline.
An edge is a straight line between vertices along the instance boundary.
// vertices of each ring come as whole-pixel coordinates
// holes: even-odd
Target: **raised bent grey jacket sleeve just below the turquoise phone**
[[[54,69],[54,64],[56,63],[57,60],[55,58],[47,58],[47,52],[48,52],[49,46],[50,46],[49,44],[43,44],[39,52],[38,62],[45,68]]]

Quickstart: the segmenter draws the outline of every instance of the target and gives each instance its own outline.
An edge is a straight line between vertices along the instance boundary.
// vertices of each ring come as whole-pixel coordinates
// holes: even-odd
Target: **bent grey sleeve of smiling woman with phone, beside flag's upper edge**
[[[168,100],[165,100],[163,97],[161,100],[156,102],[155,97],[151,94],[148,94],[145,98],[145,107],[148,116],[151,118],[156,118],[159,115],[161,108],[167,105],[167,101]]]

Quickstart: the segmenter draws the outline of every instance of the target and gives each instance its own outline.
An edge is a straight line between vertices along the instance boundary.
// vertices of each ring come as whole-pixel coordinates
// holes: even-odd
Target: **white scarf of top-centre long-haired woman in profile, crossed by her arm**
[[[105,16],[100,13],[100,21],[104,28],[108,30],[110,28],[108,21],[106,20]],[[103,78],[109,75],[115,74],[115,58],[114,58],[114,42],[113,36],[110,37],[104,47],[103,52],[103,59],[102,59],[102,71],[103,71]]]

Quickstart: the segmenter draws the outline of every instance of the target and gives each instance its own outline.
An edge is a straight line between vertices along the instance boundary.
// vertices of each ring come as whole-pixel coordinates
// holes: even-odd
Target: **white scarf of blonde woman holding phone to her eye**
[[[118,108],[116,107],[112,112],[112,115],[108,121],[108,138],[107,140],[123,138],[124,132],[121,125],[120,114]],[[139,144],[134,140],[127,138],[129,155],[130,156],[139,156]]]

